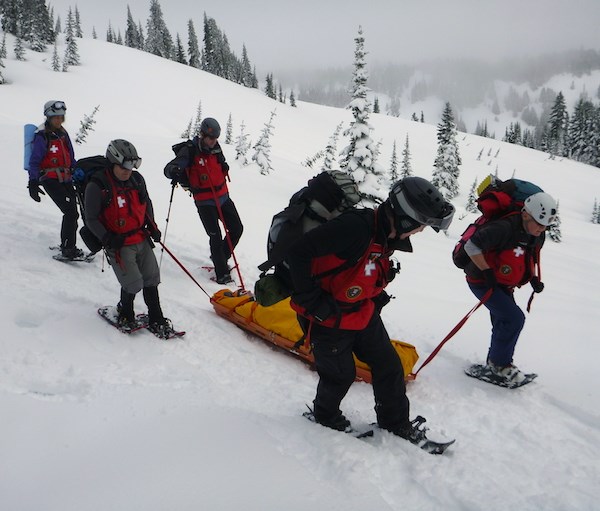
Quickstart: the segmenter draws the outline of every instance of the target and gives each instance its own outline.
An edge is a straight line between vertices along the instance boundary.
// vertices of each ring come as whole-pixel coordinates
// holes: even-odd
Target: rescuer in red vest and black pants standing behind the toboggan
[[[219,284],[227,284],[233,281],[228,260],[244,227],[229,196],[229,165],[217,141],[220,134],[219,123],[212,117],[205,118],[200,124],[200,134],[181,148],[164,172],[169,179],[192,192],[200,220],[208,234],[216,280]],[[224,224],[225,237],[219,220]]]

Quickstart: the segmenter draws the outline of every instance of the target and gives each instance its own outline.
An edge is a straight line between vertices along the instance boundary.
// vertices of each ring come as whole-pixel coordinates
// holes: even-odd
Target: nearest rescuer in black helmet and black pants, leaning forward
[[[291,305],[308,337],[319,384],[315,422],[344,431],[350,421],[340,404],[356,377],[353,353],[369,365],[377,423],[420,444],[422,417],[409,420],[404,370],[380,317],[384,291],[399,268],[390,256],[412,252],[410,236],[431,226],[447,229],[452,204],[420,177],[404,178],[377,209],[349,210],[307,232],[288,252]]]

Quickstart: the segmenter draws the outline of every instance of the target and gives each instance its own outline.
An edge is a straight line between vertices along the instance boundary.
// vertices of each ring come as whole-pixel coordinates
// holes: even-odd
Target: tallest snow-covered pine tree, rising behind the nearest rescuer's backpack
[[[350,138],[350,143],[342,151],[341,166],[346,172],[352,174],[354,180],[366,198],[373,201],[383,199],[379,184],[378,170],[373,162],[374,144],[371,139],[371,125],[369,114],[371,105],[367,100],[367,79],[369,73],[366,70],[364,50],[365,39],[362,27],[358,28],[358,35],[354,39],[356,43],[354,51],[354,72],[352,76],[352,99],[348,108],[352,111],[354,120],[350,127],[344,131],[344,136]]]

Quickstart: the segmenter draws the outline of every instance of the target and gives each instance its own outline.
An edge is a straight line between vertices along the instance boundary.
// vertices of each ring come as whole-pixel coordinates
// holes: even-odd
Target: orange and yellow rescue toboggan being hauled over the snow
[[[290,307],[289,298],[263,307],[249,291],[221,289],[211,297],[210,302],[222,318],[314,365],[315,359],[308,343],[303,342],[303,332],[296,313]],[[402,361],[404,374],[407,375],[405,378],[413,379],[412,371],[419,359],[417,350],[412,344],[402,341],[392,340],[392,344]],[[356,379],[371,383],[369,366],[356,358],[355,362]]]

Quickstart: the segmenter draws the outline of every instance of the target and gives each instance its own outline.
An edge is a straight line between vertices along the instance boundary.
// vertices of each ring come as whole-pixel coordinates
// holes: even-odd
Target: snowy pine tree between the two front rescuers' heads
[[[446,103],[442,121],[438,124],[438,150],[434,161],[432,184],[438,188],[445,199],[458,195],[459,165],[462,164],[456,142],[456,125],[450,103]]]

